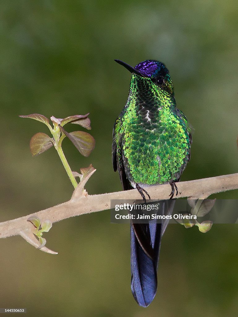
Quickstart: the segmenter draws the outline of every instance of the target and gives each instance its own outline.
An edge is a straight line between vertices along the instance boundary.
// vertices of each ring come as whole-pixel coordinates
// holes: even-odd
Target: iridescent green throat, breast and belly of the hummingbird
[[[118,155],[133,187],[180,178],[189,160],[191,139],[173,94],[133,74],[127,104],[117,122]]]

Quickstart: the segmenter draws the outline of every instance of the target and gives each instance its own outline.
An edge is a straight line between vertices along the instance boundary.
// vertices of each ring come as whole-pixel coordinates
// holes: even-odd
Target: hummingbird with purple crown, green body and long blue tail
[[[190,160],[192,144],[188,120],[176,106],[173,83],[166,66],[145,60],[132,67],[115,60],[132,73],[125,107],[113,128],[112,161],[123,190],[136,188],[144,202],[150,186],[176,182]],[[167,200],[169,202],[169,200]],[[160,212],[171,212],[161,204]],[[169,211],[168,211],[169,210]],[[131,289],[137,303],[147,307],[157,292],[161,238],[168,222],[131,223]]]

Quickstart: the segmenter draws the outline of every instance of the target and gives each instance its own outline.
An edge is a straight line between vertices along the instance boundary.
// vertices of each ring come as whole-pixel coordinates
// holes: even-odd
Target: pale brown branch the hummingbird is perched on
[[[136,189],[100,195],[88,195],[87,191],[84,189],[84,185],[94,171],[96,170],[92,167],[91,170],[83,175],[69,201],[28,216],[0,223],[0,238],[20,235],[27,242],[34,245],[36,248],[39,248],[40,243],[33,234],[35,227],[32,223],[27,222],[29,217],[35,216],[42,222],[50,221],[55,223],[66,218],[110,209],[112,199],[141,199],[141,196]],[[238,173],[180,182],[177,187],[177,198],[188,197],[192,199],[205,199],[211,194],[238,189]],[[168,199],[168,193],[170,193],[171,187],[170,184],[155,185],[149,187],[147,191],[149,192],[151,199]],[[41,250],[51,254],[57,254],[46,247],[42,247]]]

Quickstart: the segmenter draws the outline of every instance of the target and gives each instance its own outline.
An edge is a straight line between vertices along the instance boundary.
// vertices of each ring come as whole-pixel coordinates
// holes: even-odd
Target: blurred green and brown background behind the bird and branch
[[[47,127],[19,114],[90,112],[94,151],[83,158],[66,139],[66,157],[73,170],[90,163],[97,169],[89,194],[121,190],[112,129],[131,74],[115,58],[132,65],[158,59],[169,68],[177,106],[194,128],[182,180],[238,171],[236,0],[3,0],[0,8],[1,221],[67,201],[73,191],[53,148],[30,154],[31,136]],[[57,256],[21,237],[0,240],[0,307],[46,317],[237,315],[236,225],[214,225],[206,234],[170,225],[157,296],[146,309],[130,290],[129,225],[111,224],[108,210],[55,223],[45,237]]]

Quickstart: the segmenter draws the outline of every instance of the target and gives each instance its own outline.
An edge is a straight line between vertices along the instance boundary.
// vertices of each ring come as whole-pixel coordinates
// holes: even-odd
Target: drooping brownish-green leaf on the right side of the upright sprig
[[[61,133],[64,133],[70,139],[83,156],[89,156],[89,154],[93,151],[95,140],[91,134],[84,131],[74,131],[68,133],[61,126],[60,130]]]

